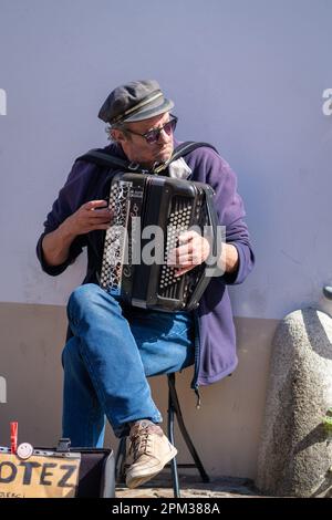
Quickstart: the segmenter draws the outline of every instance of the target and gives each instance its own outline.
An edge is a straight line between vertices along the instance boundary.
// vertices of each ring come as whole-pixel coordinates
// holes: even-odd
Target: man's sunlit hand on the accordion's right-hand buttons
[[[185,231],[178,237],[179,246],[169,251],[167,264],[176,268],[176,277],[205,262],[210,252],[208,240],[197,231]]]

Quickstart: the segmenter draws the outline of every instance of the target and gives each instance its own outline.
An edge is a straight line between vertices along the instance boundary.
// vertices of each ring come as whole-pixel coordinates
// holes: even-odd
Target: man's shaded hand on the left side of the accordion
[[[106,200],[90,200],[68,217],[63,223],[71,235],[77,236],[97,229],[108,229],[110,222],[111,211]]]

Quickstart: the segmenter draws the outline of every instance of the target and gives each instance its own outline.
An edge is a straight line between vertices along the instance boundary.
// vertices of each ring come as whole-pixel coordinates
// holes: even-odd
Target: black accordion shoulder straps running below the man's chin
[[[138,163],[131,163],[129,160],[124,160],[120,157],[115,157],[114,155],[101,152],[98,148],[91,149],[86,154],[81,155],[76,158],[76,162],[85,160],[86,163],[93,163],[97,166],[112,166],[115,168],[122,168],[124,170],[136,171],[137,174],[159,174],[164,171],[174,160],[177,160],[180,157],[185,157],[186,155],[190,154],[190,152],[194,152],[194,149],[200,148],[203,146],[212,148],[218,153],[218,150],[208,143],[196,143],[195,141],[187,141],[174,149],[172,157],[165,164],[157,166],[153,170],[143,168]]]

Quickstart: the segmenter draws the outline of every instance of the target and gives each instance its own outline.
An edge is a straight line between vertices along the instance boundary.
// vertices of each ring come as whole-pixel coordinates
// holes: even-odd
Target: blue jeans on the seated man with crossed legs
[[[72,446],[103,446],[105,416],[117,437],[129,422],[162,422],[147,377],[194,363],[190,313],[121,305],[87,283],[71,294],[68,318],[74,335],[62,353],[63,436]]]

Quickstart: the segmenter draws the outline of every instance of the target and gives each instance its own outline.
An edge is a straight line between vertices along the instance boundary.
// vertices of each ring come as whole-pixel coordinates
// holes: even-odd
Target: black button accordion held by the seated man
[[[209,230],[215,253],[214,194],[203,183],[116,174],[111,183],[111,227],[105,232],[100,285],[134,306],[166,312],[195,309],[210,281],[207,263],[175,277],[175,268],[166,261],[178,246],[178,236],[193,226],[200,232]],[[151,230],[153,245],[147,236]]]

